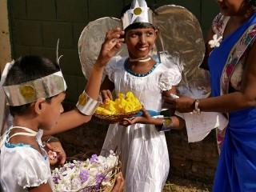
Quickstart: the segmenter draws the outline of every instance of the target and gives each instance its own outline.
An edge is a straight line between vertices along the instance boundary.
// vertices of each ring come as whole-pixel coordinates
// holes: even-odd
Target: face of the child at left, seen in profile
[[[42,112],[42,128],[43,130],[50,130],[58,122],[60,114],[62,114],[62,102],[66,94],[61,93],[50,99],[50,102],[44,102],[44,110]]]

